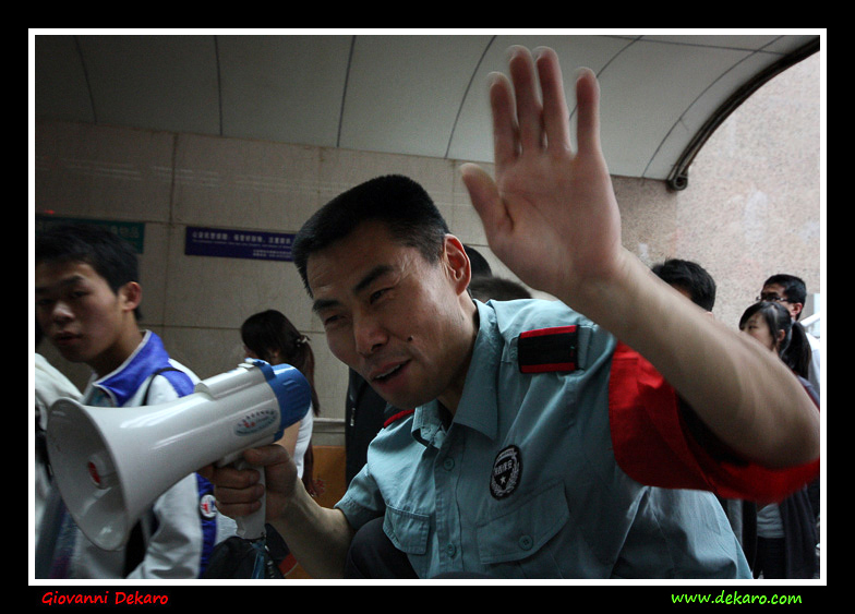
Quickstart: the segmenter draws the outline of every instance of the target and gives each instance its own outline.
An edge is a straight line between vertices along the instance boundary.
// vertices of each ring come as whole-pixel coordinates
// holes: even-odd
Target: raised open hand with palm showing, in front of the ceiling
[[[574,151],[555,52],[511,48],[509,73],[513,83],[498,74],[490,88],[495,181],[463,165],[463,182],[493,252],[532,288],[574,304],[590,284],[609,281],[624,253],[600,147],[599,84],[580,71]]]

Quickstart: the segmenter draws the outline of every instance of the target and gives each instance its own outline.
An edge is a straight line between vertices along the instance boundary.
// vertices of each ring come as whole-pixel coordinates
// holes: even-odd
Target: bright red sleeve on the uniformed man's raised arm
[[[686,409],[650,362],[618,344],[609,382],[609,421],[615,459],[634,480],[725,498],[780,502],[819,473],[819,459],[786,469],[740,459]]]

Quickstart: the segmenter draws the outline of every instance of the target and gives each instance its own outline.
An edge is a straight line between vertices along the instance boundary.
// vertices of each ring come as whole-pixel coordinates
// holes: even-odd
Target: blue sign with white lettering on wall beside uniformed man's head
[[[184,254],[225,258],[291,261],[293,234],[188,226]]]

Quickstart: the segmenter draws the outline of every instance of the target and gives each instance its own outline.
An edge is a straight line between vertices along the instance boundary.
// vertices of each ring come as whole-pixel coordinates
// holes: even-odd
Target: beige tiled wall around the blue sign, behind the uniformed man
[[[145,222],[142,326],[177,360],[208,377],[243,359],[239,327],[278,309],[311,338],[322,417],[342,419],[347,369],[329,353],[296,267],[276,261],[184,254],[186,226],[296,232],[321,205],[377,174],[414,177],[459,234],[485,255],[461,194],[457,162],[129,129],[39,123],[36,212]],[[506,270],[506,269],[505,269]],[[81,387],[88,370],[43,353]],[[342,443],[342,426],[324,429]]]

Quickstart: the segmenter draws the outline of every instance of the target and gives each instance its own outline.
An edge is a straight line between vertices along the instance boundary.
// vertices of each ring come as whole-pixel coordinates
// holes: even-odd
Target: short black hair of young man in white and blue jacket
[[[140,265],[131,244],[96,224],[62,224],[36,234],[35,265],[41,263],[88,264],[113,293],[131,281],[140,282]],[[137,320],[142,313],[134,311]]]

